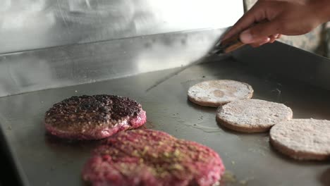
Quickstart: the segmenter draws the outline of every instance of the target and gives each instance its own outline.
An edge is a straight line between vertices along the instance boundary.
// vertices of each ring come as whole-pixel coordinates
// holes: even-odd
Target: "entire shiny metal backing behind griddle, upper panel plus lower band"
[[[238,0],[1,0],[0,97],[188,65],[242,14]]]

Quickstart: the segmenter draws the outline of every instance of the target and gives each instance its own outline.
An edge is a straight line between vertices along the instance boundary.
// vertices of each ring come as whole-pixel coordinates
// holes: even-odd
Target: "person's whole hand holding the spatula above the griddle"
[[[303,35],[328,20],[329,0],[259,0],[222,40],[243,31],[243,43],[260,46],[281,35]],[[257,24],[251,27],[253,23]]]

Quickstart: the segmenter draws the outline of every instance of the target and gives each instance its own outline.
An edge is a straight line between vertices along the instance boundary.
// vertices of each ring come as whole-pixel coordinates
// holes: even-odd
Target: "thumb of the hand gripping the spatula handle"
[[[240,34],[240,41],[245,44],[258,42],[270,35],[280,33],[280,24],[276,20],[257,23]]]

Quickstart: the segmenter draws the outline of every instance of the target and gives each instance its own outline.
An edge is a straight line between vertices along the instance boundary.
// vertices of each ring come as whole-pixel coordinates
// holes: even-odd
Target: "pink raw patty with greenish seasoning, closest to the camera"
[[[157,130],[129,130],[107,139],[82,171],[100,185],[214,185],[224,173],[215,151]]]

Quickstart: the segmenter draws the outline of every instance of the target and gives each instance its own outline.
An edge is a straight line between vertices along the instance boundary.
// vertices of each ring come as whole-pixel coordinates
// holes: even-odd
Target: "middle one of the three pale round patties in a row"
[[[265,132],[292,116],[288,106],[259,99],[233,101],[216,112],[220,125],[240,132]]]

